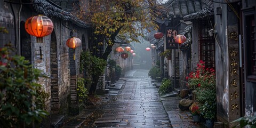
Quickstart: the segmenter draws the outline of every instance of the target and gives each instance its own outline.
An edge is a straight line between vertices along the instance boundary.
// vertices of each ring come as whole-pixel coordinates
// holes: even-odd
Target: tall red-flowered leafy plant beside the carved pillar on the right
[[[217,111],[215,70],[205,68],[201,60],[196,71],[191,72],[187,79],[189,88],[195,91],[201,115],[212,123],[209,126],[212,127]]]

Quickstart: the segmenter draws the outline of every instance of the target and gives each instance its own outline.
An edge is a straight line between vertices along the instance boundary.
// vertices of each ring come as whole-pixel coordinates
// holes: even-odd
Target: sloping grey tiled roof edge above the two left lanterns
[[[52,4],[50,4],[45,0],[35,0],[34,2],[38,3],[38,4],[33,4],[37,13],[44,14],[50,18],[54,17],[54,18],[62,19],[64,21],[69,21],[79,27],[83,27],[83,28],[88,27],[84,21],[79,20],[77,17],[75,17],[75,15],[71,14],[70,12],[63,11],[58,7],[53,6]]]

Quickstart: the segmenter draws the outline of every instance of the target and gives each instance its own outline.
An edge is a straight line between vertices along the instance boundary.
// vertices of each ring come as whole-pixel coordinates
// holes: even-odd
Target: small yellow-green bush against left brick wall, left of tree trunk
[[[84,78],[78,78],[77,79],[77,94],[78,94],[78,101],[79,103],[82,103],[85,98],[88,97],[88,91],[85,88],[85,79]]]

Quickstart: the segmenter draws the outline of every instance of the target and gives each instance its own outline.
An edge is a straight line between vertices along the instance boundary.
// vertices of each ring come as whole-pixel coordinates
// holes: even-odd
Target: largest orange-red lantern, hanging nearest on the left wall
[[[43,43],[42,37],[52,33],[53,23],[50,18],[39,14],[27,19],[25,29],[28,34],[37,37],[36,42]]]

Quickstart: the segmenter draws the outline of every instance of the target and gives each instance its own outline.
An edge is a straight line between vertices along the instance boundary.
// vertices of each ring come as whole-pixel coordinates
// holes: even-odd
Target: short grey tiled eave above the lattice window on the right
[[[209,15],[213,15],[214,14],[214,10],[211,7],[206,7],[205,9],[198,11],[196,13],[191,13],[188,15],[185,15],[183,17],[184,21],[189,21],[189,20],[193,20],[193,19],[201,19],[204,17],[207,17]]]

